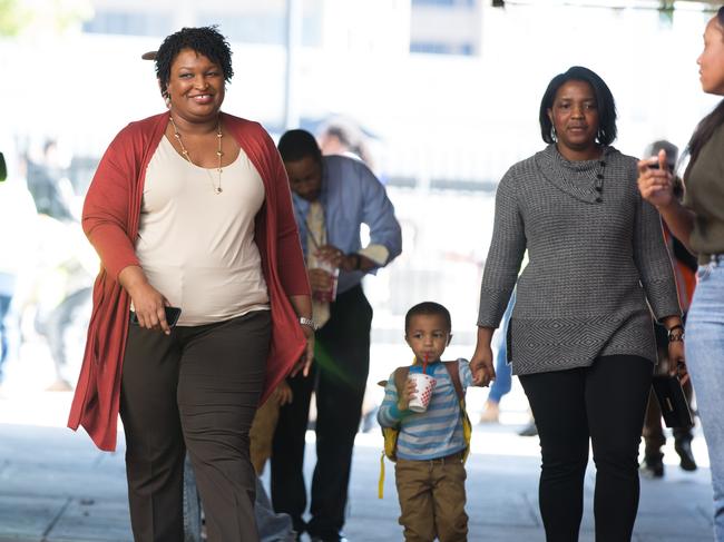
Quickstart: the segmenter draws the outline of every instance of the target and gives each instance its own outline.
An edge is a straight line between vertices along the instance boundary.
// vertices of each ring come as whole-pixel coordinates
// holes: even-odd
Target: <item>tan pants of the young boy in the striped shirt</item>
[[[464,542],[466,470],[460,453],[431,461],[398,460],[394,479],[405,542]]]

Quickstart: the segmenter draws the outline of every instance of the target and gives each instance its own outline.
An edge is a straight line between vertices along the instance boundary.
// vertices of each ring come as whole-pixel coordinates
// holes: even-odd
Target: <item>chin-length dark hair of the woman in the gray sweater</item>
[[[538,119],[540,121],[540,136],[547,144],[554,142],[552,122],[548,117],[548,109],[554,107],[556,92],[568,81],[584,81],[590,85],[596,95],[596,107],[598,108],[598,135],[596,140],[600,145],[610,145],[616,139],[616,102],[610,89],[595,71],[574,66],[568,68],[565,73],[558,73],[548,83],[548,88],[540,100],[540,111]]]

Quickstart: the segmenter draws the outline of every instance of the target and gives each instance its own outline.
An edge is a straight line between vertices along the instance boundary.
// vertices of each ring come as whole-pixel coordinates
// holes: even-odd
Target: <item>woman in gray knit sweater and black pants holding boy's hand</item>
[[[610,147],[616,108],[604,80],[583,67],[556,76],[540,128],[549,145],[498,186],[471,366],[477,383],[495,378],[490,338],[517,284],[508,359],[540,435],[547,540],[578,540],[590,441],[596,540],[624,542],[656,363],[649,306],[685,372],[676,286],[656,209],[636,186],[637,161]]]

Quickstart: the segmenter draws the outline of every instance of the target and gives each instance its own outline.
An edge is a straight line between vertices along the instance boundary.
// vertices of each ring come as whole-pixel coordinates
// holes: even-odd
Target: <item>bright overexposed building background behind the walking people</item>
[[[471,354],[495,187],[542,147],[538,107],[554,75],[584,65],[604,77],[618,106],[615,145],[629,155],[661,138],[683,148],[716,102],[696,75],[711,17],[697,2],[65,1],[91,8],[75,31],[0,39],[10,76],[0,102],[19,148],[52,136],[72,155],[78,200],[114,135],[163,110],[140,55],[182,26],[218,23],[228,36],[236,76],[225,110],[275,136],[332,115],[362,125],[404,230],[402,257],[368,284],[375,345],[400,345],[407,307],[437,299],[452,309],[459,353]]]

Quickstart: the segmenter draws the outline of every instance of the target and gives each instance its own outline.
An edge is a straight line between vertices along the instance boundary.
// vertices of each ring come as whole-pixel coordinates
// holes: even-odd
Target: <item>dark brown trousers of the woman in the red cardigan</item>
[[[209,542],[258,540],[248,430],[264,383],[271,315],[257,311],[172,335],[131,325],[120,417],[136,542],[184,540],[186,450]]]

